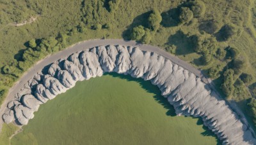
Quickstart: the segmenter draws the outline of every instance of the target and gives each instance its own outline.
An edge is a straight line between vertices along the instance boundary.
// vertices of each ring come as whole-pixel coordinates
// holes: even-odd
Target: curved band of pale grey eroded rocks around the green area
[[[176,114],[201,117],[224,144],[256,144],[252,132],[227,103],[200,78],[154,52],[131,46],[99,46],[77,52],[38,72],[8,103],[6,123],[28,124],[40,104],[72,88],[76,81],[102,76],[104,72],[130,74],[157,85]]]

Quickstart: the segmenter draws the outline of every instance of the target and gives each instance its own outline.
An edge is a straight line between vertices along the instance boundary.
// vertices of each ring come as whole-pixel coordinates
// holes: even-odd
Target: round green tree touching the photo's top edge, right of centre
[[[190,10],[193,11],[194,17],[202,17],[205,13],[205,4],[202,1],[191,1]]]

